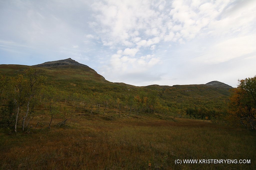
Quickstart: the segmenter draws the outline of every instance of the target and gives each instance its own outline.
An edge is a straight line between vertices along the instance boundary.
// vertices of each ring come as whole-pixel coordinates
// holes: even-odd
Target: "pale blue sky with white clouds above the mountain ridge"
[[[135,86],[256,75],[255,0],[0,0],[0,64],[72,58]]]

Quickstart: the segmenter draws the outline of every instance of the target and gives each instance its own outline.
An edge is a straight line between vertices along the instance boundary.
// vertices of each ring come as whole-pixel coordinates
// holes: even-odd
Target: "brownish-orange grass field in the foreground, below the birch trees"
[[[255,169],[255,132],[157,117],[109,120],[98,114],[67,128],[54,126],[60,122],[55,118],[51,129],[38,126],[16,135],[1,130],[0,169]],[[250,164],[176,165],[176,159],[246,159]]]

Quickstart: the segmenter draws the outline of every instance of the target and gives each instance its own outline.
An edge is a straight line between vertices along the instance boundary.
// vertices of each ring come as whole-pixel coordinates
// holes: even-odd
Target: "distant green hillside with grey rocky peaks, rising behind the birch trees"
[[[134,112],[135,108],[139,108],[139,112],[152,112],[154,110],[154,112],[158,113],[186,115],[201,119],[204,119],[205,116],[211,118],[225,114],[229,89],[232,88],[218,81],[206,84],[174,86],[154,84],[143,87],[125,83],[113,83],[105,80],[103,76],[92,68],[71,58],[45,62],[34,66],[0,65],[0,74],[7,77],[15,77],[18,74],[24,74],[25,68],[40,70],[41,75],[47,76],[45,85],[53,86],[57,91],[68,94],[70,102],[74,93],[85,95],[89,100],[97,98],[97,100],[100,100],[99,104],[104,104],[104,98],[109,96],[113,107],[116,100],[120,99],[122,108],[126,111],[128,107]],[[140,102],[140,104],[137,103],[138,107],[134,106],[135,96],[138,96],[137,100]],[[145,104],[142,99],[148,100],[148,104]],[[150,100],[155,103],[154,109],[149,104]],[[130,106],[129,103],[131,103]]]

